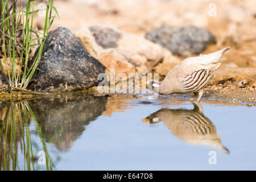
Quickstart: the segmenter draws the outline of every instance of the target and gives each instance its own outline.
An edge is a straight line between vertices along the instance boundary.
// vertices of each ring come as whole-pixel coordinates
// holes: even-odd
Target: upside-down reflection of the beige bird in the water
[[[203,109],[192,102],[194,109],[160,109],[152,113],[143,122],[150,124],[164,122],[164,125],[180,140],[189,144],[209,146],[229,154],[228,148],[222,145],[221,137]]]

